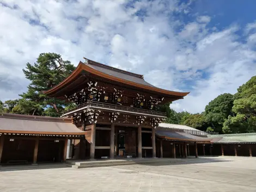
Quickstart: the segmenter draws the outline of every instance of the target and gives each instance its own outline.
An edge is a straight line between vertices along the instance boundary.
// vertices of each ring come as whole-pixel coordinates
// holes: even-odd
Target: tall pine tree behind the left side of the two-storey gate
[[[42,91],[53,88],[74,70],[75,66],[70,61],[63,60],[59,54],[41,53],[34,65],[27,63],[26,69],[23,69],[26,78],[31,80],[31,83],[28,85],[28,91],[20,95],[26,101],[22,104],[27,104],[32,114],[60,116],[66,104],[57,98],[47,97]],[[45,109],[44,113],[41,113],[39,106]],[[17,109],[16,112],[23,113],[22,109]]]

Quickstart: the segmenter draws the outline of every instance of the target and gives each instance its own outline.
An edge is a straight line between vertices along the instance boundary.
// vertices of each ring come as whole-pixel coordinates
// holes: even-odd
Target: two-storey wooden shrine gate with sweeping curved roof
[[[63,117],[72,117],[85,132],[73,140],[74,156],[80,159],[156,157],[155,128],[166,118],[159,105],[188,94],[157,88],[142,75],[89,59],[44,93],[77,104]]]

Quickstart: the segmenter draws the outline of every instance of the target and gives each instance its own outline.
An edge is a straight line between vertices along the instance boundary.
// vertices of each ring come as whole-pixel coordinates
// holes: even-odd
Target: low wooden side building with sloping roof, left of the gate
[[[68,139],[82,135],[70,118],[0,113],[0,163],[65,162]]]

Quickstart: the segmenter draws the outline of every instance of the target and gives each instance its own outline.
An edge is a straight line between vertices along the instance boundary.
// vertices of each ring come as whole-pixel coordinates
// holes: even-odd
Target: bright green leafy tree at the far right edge
[[[224,122],[223,133],[256,132],[256,76],[240,86],[234,97],[235,116]]]

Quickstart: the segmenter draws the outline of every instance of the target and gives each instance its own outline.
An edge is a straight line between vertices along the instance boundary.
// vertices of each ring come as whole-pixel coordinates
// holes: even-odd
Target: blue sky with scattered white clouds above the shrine
[[[0,100],[26,92],[26,63],[55,52],[190,91],[170,107],[201,113],[256,75],[255,8],[254,0],[0,0]]]

